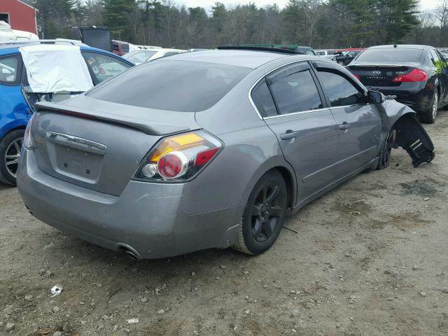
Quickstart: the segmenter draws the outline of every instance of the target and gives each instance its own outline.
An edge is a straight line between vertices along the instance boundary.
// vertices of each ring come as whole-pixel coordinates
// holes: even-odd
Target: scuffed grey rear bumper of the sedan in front
[[[129,247],[141,258],[165,258],[235,241],[242,207],[187,214],[180,209],[186,197],[194,197],[188,195],[188,183],[130,181],[117,197],[41,172],[25,148],[21,160],[18,189],[29,211],[92,244],[114,251]]]

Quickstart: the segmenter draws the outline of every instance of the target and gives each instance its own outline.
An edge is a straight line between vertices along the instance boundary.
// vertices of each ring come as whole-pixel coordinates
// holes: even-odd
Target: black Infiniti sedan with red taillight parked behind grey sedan
[[[423,123],[434,123],[437,109],[448,105],[447,62],[428,45],[367,48],[347,69],[370,90],[396,96]]]

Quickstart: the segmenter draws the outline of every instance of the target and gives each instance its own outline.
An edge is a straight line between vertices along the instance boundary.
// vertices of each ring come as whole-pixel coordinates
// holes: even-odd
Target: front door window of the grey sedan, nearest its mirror
[[[345,77],[330,71],[318,71],[323,92],[330,99],[331,106],[365,104],[365,95]]]

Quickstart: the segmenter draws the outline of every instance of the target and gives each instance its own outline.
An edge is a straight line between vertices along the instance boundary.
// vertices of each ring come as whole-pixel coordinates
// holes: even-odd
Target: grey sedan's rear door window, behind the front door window
[[[280,114],[310,111],[323,107],[309,70],[292,73],[271,85]]]

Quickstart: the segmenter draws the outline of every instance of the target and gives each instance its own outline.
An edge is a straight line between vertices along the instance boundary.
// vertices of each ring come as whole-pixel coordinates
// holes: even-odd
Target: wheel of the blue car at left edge
[[[0,182],[10,186],[16,185],[24,135],[24,130],[15,130],[6,134],[0,141]]]

